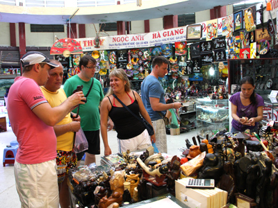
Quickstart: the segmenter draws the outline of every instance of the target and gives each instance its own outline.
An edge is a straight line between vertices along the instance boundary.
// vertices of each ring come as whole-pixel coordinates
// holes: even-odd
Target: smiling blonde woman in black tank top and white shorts
[[[104,141],[104,155],[111,155],[112,151],[108,145],[107,121],[112,119],[117,132],[119,152],[126,150],[135,151],[145,149],[156,142],[155,135],[149,136],[145,125],[136,119],[126,108],[113,96],[126,105],[133,114],[142,116],[152,125],[152,121],[145,109],[139,94],[131,90],[129,78],[124,69],[115,69],[109,74],[110,89],[101,102],[101,137]]]

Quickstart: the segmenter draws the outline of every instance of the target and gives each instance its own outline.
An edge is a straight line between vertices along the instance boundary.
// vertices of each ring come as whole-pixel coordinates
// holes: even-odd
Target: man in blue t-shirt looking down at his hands
[[[169,61],[164,56],[158,56],[152,61],[152,73],[142,82],[141,95],[142,102],[152,119],[154,132],[156,132],[156,146],[160,153],[167,153],[167,138],[165,123],[163,121],[166,110],[179,109],[181,103],[165,102],[165,93],[158,77],[163,78],[168,73]]]

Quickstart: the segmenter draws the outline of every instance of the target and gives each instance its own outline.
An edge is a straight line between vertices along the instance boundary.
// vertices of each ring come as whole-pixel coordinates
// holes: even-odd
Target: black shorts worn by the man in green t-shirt
[[[96,131],[84,131],[84,135],[88,141],[89,148],[81,153],[77,153],[77,160],[81,160],[84,153],[90,153],[92,155],[100,155],[100,139],[99,130]]]

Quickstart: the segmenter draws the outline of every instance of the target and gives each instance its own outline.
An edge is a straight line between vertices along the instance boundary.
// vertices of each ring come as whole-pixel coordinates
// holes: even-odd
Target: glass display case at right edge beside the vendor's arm
[[[278,123],[277,99],[270,99],[266,95],[262,97],[265,102],[265,106],[263,106],[263,124],[268,123],[269,121],[275,121],[275,123]]]

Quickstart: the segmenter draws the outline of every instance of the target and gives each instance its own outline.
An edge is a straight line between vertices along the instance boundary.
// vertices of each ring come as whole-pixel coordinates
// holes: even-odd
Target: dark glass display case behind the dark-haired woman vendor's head
[[[240,90],[239,83],[244,76],[251,76],[255,81],[256,93],[270,94],[271,89],[278,89],[278,59],[229,59],[229,94]]]

